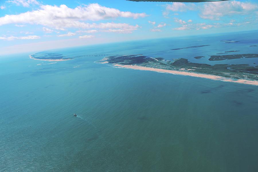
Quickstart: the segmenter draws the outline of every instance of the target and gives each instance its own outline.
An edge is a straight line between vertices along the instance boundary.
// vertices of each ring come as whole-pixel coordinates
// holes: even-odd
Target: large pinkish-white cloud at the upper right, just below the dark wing
[[[258,5],[249,2],[227,1],[209,2],[201,8],[200,17],[204,19],[219,20],[225,15],[246,15],[258,10]]]

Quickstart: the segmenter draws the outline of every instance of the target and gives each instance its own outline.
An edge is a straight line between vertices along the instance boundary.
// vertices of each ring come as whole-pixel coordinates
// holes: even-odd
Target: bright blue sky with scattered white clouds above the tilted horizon
[[[0,0],[0,55],[257,30],[258,1]]]

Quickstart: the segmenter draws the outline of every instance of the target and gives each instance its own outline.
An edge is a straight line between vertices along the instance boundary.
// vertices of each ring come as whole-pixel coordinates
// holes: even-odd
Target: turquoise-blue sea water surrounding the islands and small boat
[[[224,39],[237,38],[229,37]],[[216,44],[257,53],[249,47],[257,40],[246,33],[241,39]],[[208,46],[172,51],[196,45],[174,41],[52,51],[67,57],[136,53],[166,59],[188,52],[185,56],[199,62],[205,58],[189,54],[226,51]],[[156,42],[171,46],[153,46]],[[94,63],[103,57],[52,63],[30,54],[0,59],[0,171],[258,171],[257,86]]]

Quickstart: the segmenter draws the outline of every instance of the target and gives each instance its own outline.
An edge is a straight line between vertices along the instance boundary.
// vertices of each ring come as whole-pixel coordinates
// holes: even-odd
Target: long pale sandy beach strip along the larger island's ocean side
[[[136,65],[114,64],[114,66],[115,67],[122,67],[122,68],[126,68],[126,69],[136,69],[136,70],[143,70],[143,71],[172,73],[172,74],[175,74],[175,75],[185,75],[185,76],[191,76],[191,77],[200,77],[200,78],[234,82],[234,83],[241,83],[241,84],[248,84],[248,85],[258,85],[258,81],[251,81],[251,80],[245,80],[245,79],[233,79],[233,78],[226,78],[226,77],[220,77],[220,76],[208,75],[208,74],[199,74],[199,73],[193,73],[193,72],[172,71],[172,70],[167,70],[167,69],[149,68],[149,67],[142,67],[142,66],[136,66]]]

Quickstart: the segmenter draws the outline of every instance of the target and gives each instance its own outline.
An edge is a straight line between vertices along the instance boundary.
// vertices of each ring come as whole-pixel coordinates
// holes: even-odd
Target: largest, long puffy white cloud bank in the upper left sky
[[[104,7],[97,3],[78,6],[74,9],[66,5],[60,5],[59,7],[55,5],[41,5],[38,10],[0,17],[0,26],[11,23],[28,23],[64,30],[64,28],[92,28],[92,24],[81,22],[86,20],[98,21],[117,17],[131,17],[136,19],[146,16],[145,13],[124,12],[118,9]]]

